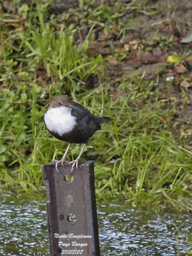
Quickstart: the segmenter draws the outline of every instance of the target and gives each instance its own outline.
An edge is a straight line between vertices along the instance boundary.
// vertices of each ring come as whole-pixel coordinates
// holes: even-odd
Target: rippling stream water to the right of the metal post
[[[99,211],[102,255],[185,255],[192,214],[157,213],[104,206]],[[113,252],[111,254],[111,252]]]

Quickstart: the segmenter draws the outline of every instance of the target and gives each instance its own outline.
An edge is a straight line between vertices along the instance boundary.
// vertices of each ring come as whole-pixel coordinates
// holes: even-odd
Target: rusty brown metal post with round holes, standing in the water
[[[100,256],[94,163],[71,167],[42,165],[47,191],[47,219],[51,256]]]

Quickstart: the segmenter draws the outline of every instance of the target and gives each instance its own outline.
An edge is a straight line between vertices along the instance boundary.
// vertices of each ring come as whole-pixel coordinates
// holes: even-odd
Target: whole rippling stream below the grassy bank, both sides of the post
[[[0,255],[48,256],[45,195],[0,191]],[[100,205],[102,256],[186,255],[192,214],[130,209],[125,204]]]

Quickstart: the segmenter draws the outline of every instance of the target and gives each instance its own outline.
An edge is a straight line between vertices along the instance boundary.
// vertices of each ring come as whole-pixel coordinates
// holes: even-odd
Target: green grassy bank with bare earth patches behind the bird
[[[191,155],[178,146],[190,150],[190,87],[177,90],[175,80],[166,81],[163,59],[163,68],[156,66],[149,75],[142,63],[132,72],[125,67],[135,50],[151,52],[158,46],[172,54],[170,37],[126,41],[129,29],[143,19],[138,13],[156,17],[161,10],[139,3],[81,3],[77,10],[56,14],[51,8],[50,1],[15,1],[1,10],[1,185],[44,189],[40,164],[60,159],[67,143],[45,130],[43,116],[49,99],[68,94],[93,114],[113,118],[82,157],[95,160],[98,198],[189,209]],[[123,14],[132,12],[123,22]],[[184,54],[173,68],[182,65]],[[179,77],[191,82],[184,73]],[[73,145],[69,158],[79,150]]]

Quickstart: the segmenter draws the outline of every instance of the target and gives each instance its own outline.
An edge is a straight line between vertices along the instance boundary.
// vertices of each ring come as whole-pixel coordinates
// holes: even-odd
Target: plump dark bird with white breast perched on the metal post
[[[45,126],[47,130],[58,140],[67,141],[68,147],[60,161],[56,163],[56,170],[58,171],[58,164],[68,162],[66,156],[71,143],[83,143],[83,148],[76,160],[72,163],[72,170],[79,163],[79,159],[83,150],[88,143],[88,140],[93,134],[100,130],[100,125],[104,122],[111,121],[109,117],[97,117],[92,115],[84,106],[72,102],[66,95],[56,96],[51,101],[49,109],[44,116]]]

